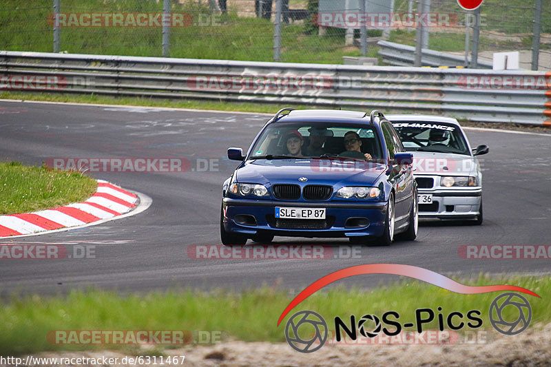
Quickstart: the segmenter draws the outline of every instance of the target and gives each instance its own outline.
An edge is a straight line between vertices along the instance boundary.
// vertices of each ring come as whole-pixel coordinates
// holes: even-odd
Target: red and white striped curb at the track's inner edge
[[[138,202],[139,210],[136,207]],[[87,227],[141,213],[149,205],[151,199],[148,196],[141,193],[136,195],[110,182],[98,180],[96,193],[84,202],[32,213],[0,216],[0,238]]]

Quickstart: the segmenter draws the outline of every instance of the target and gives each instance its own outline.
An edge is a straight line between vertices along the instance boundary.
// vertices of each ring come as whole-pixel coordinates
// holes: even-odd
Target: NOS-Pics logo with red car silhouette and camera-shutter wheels
[[[420,268],[419,266],[406,264],[364,264],[334,271],[307,286],[291,300],[281,313],[278,319],[278,326],[293,308],[313,295],[313,293],[324,288],[324,286],[354,275],[367,274],[391,274],[411,277],[461,294],[474,295],[508,291],[508,293],[503,293],[492,301],[488,312],[490,324],[492,324],[496,331],[504,335],[522,333],[522,331],[528,328],[532,320],[530,302],[519,293],[539,297],[537,293],[529,289],[508,284],[467,286],[435,271]],[[516,312],[512,313],[511,311],[514,311],[514,308],[517,308]],[[440,331],[444,331],[444,328],[458,331],[467,326],[469,328],[480,328],[483,324],[481,315],[482,313],[479,310],[470,310],[464,314],[458,311],[450,312],[449,310],[444,310],[442,307],[438,307],[437,311],[431,308],[418,308],[411,319],[404,321],[406,317],[400,319],[400,315],[396,311],[387,311],[381,315],[382,317],[379,317],[380,315],[364,315],[362,317],[351,315],[349,321],[343,321],[340,317],[335,317],[333,330],[335,331],[337,342],[340,342],[340,338],[344,334],[356,340],[357,333],[369,338],[376,337],[381,333],[387,336],[395,336],[407,328],[415,328],[415,332],[422,333],[423,326],[432,322],[438,323]],[[373,328],[368,326],[373,324],[375,324]],[[312,353],[320,349],[325,344],[328,336],[329,329],[327,328],[325,319],[322,315],[313,311],[295,313],[289,318],[285,326],[285,338],[287,342],[293,349],[302,353]]]

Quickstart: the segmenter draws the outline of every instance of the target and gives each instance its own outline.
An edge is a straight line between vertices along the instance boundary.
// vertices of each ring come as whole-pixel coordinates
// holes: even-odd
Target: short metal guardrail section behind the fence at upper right
[[[388,41],[379,41],[377,46],[379,56],[382,56],[383,62],[388,65],[413,66],[415,63],[415,47],[402,45]],[[424,66],[462,66],[465,65],[465,56],[447,54],[426,48],[421,50],[421,63]],[[480,69],[492,69],[492,63],[488,61],[477,61]]]

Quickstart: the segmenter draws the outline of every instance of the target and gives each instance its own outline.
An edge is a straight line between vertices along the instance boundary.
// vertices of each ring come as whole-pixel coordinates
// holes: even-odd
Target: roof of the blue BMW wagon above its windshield
[[[294,121],[364,123],[371,125],[371,121],[366,112],[342,111],[338,109],[295,109],[289,112],[289,114],[278,118],[275,123]]]

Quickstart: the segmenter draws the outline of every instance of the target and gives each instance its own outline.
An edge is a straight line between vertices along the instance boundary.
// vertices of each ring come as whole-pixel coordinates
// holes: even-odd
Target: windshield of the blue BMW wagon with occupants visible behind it
[[[274,123],[251,150],[249,159],[382,158],[380,139],[373,127],[334,123]]]

